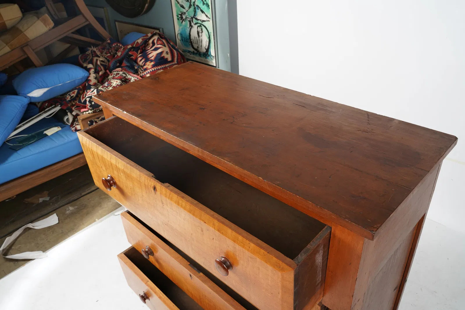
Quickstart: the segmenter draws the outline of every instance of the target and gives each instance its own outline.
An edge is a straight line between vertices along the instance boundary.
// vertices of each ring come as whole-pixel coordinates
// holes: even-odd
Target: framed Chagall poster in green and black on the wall
[[[216,67],[212,0],[171,0],[176,45],[186,58]]]

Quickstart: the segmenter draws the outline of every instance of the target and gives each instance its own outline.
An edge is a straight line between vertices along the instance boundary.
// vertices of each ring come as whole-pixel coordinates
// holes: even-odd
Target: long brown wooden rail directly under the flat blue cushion
[[[80,153],[73,157],[63,159],[56,164],[46,166],[22,177],[8,181],[0,185],[0,201],[13,197],[22,191],[26,191],[83,165],[86,165],[86,157],[83,153]]]

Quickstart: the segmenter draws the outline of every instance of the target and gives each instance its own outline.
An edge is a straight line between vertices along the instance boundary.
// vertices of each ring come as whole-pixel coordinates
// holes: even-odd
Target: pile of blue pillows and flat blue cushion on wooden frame
[[[39,112],[37,106],[29,102],[40,102],[66,93],[85,82],[88,75],[83,68],[71,64],[32,68],[13,79],[18,95],[0,95],[0,184],[82,152],[76,132],[53,117],[41,119],[17,135],[52,126],[62,127],[59,132],[18,151],[10,149],[10,145],[4,142],[21,121]],[[0,85],[5,80],[6,77],[0,74]]]

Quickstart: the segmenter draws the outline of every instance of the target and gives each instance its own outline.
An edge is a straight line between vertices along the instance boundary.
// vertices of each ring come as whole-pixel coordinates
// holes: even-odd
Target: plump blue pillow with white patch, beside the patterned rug
[[[13,80],[18,95],[40,102],[69,92],[86,81],[89,73],[71,64],[54,64],[27,69]]]

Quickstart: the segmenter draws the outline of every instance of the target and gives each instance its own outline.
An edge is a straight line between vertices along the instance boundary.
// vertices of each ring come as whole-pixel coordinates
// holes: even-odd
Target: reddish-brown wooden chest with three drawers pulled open
[[[395,309],[457,138],[187,63],[79,132],[151,309]]]

